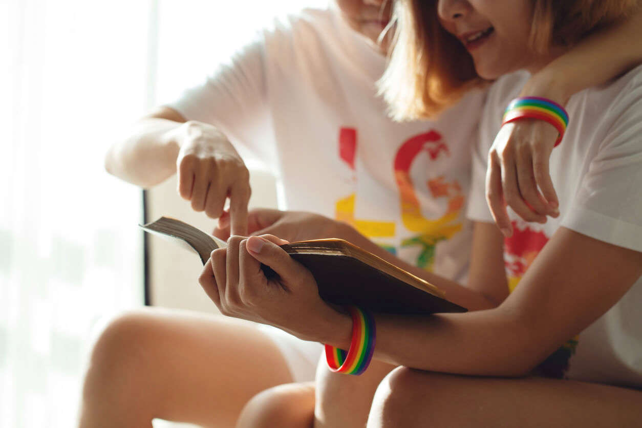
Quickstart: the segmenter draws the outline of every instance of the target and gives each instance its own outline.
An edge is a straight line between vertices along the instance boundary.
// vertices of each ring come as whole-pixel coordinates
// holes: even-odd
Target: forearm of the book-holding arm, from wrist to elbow
[[[546,356],[525,325],[501,307],[412,318],[376,315],[375,322],[374,358],[419,370],[519,376]],[[351,318],[338,314],[332,326],[324,343],[349,349]]]

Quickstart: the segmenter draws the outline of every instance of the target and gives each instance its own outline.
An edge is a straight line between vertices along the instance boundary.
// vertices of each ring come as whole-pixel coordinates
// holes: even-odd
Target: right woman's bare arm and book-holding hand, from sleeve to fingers
[[[492,239],[498,234],[494,225],[478,223],[474,247],[497,253]],[[311,273],[279,248],[282,243],[273,235],[232,236],[227,249],[213,252],[200,284],[225,315],[348,349],[351,317],[322,301]],[[505,292],[505,278],[489,273],[496,266],[484,266],[483,259],[476,259],[470,273],[479,281],[478,293]],[[261,263],[279,277],[268,280]],[[374,357],[435,372],[525,375],[618,302],[640,275],[642,252],[560,227],[498,307],[463,314],[375,316]],[[443,284],[447,282],[438,283]]]

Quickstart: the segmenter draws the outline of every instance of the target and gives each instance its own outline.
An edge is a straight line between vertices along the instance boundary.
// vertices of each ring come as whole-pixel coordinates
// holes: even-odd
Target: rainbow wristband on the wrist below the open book
[[[343,349],[325,345],[325,361],[332,372],[360,375],[368,368],[374,352],[376,329],[370,312],[351,306],[352,342],[347,355]]]

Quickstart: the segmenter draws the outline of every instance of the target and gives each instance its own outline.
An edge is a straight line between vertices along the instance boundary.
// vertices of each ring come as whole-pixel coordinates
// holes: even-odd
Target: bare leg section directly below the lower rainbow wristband
[[[374,392],[394,368],[373,359],[361,375],[346,375],[331,372],[322,357],[317,366],[315,428],[365,426]]]

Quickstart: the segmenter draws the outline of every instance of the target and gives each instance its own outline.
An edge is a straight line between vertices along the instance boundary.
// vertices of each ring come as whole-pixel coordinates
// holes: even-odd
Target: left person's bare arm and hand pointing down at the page
[[[232,230],[247,233],[249,173],[227,137],[211,124],[186,121],[176,110],[160,107],[110,148],[105,168],[141,187],[178,173],[178,194],[195,211],[218,218],[229,198]]]

